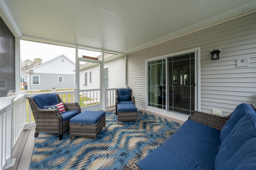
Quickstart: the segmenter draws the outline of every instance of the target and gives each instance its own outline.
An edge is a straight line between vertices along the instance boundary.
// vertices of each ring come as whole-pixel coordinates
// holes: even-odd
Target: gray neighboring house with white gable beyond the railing
[[[28,72],[28,90],[75,88],[75,63],[60,55],[42,63]]]

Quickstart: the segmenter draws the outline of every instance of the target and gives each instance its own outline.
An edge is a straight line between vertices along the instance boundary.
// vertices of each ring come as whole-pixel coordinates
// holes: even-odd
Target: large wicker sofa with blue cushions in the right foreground
[[[124,170],[256,170],[256,111],[240,104],[218,116],[195,111],[160,147]]]

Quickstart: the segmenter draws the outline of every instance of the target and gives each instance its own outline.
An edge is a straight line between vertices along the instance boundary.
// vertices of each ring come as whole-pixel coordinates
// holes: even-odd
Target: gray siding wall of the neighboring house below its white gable
[[[40,84],[32,84],[32,76],[40,76]],[[58,83],[58,76],[63,77],[63,83]],[[75,88],[75,75],[52,74],[52,73],[30,73],[29,90],[51,90],[52,87],[58,89]]]

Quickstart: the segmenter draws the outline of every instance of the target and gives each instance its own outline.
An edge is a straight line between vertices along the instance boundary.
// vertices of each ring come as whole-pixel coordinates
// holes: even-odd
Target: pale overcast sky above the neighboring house
[[[81,51],[83,52],[80,53]],[[40,58],[43,60],[43,63],[44,63],[62,54],[64,54],[66,57],[68,57],[70,60],[72,60],[75,63],[76,53],[74,48],[62,47],[58,45],[50,45],[50,44],[44,44],[44,43],[36,43],[32,41],[23,41],[23,40],[20,41],[20,57],[22,61],[25,61],[26,59],[30,59],[33,61],[35,58]],[[100,55],[100,53],[99,52],[89,53],[87,50],[79,50],[78,57],[82,57],[82,55],[97,57],[98,55]]]

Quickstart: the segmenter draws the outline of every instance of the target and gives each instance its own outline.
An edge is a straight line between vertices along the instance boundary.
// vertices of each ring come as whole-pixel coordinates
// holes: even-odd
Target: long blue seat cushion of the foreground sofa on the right
[[[219,145],[219,130],[187,120],[160,147],[138,162],[138,166],[142,169],[214,170]]]

